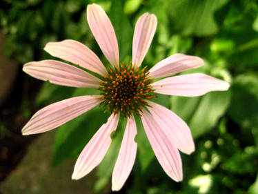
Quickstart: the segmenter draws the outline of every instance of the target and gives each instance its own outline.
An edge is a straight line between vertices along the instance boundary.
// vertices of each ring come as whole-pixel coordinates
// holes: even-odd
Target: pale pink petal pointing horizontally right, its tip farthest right
[[[155,93],[195,97],[211,91],[228,90],[230,85],[203,73],[192,73],[168,77],[154,82],[151,86]]]

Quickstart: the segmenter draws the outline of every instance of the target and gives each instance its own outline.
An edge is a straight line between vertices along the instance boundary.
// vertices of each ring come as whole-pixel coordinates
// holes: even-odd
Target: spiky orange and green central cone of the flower
[[[102,104],[111,113],[121,113],[124,117],[133,112],[140,115],[142,108],[148,105],[146,99],[155,96],[148,74],[147,68],[140,70],[126,62],[119,68],[110,68],[99,87],[103,95]]]

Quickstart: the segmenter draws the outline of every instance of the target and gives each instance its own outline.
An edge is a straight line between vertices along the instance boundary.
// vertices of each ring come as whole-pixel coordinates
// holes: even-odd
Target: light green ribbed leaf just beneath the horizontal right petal
[[[172,97],[172,111],[184,119],[194,138],[211,130],[224,115],[230,91],[212,92],[203,97]]]

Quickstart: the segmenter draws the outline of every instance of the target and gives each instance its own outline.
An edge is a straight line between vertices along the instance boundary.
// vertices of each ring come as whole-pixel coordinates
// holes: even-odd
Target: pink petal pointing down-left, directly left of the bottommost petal
[[[111,144],[111,133],[117,129],[119,115],[114,113],[108,118],[108,122],[103,124],[101,128],[90,139],[90,142],[83,148],[75,164],[74,172],[72,173],[73,180],[79,180],[87,175],[95,168],[103,157],[106,155]]]

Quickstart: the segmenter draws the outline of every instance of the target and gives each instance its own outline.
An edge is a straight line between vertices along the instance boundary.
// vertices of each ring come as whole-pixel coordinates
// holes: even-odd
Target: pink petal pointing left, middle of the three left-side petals
[[[28,75],[52,84],[72,87],[98,88],[100,79],[90,73],[60,61],[33,61],[23,66]]]

